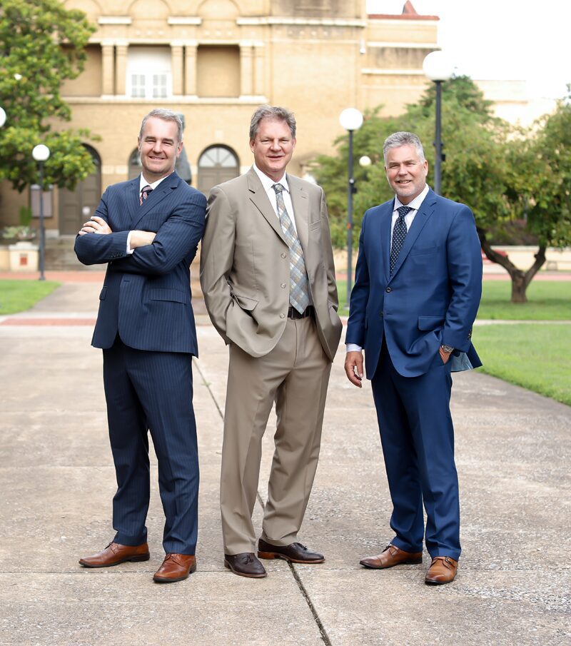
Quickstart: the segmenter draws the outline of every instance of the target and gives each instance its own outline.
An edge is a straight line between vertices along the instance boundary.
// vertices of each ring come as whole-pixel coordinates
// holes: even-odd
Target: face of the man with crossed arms
[[[148,118],[142,136],[138,138],[143,176],[148,181],[157,181],[174,170],[176,158],[183,149],[178,143],[178,128],[174,121],[163,121],[155,116]]]

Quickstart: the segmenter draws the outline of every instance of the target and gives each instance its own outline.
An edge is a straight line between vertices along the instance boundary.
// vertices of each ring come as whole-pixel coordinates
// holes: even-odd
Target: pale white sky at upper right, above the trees
[[[440,16],[438,44],[459,74],[527,81],[531,98],[558,99],[571,83],[571,0],[412,0]],[[400,14],[404,0],[367,0],[370,14]]]

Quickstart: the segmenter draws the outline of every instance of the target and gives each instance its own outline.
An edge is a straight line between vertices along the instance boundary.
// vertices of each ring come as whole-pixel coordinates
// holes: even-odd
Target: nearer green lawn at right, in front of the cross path
[[[479,370],[571,405],[571,325],[477,325]]]

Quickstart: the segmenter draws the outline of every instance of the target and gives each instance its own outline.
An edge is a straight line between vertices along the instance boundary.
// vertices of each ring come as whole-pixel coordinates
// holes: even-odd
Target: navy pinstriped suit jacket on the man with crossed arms
[[[117,332],[138,350],[198,356],[190,264],[204,231],[206,198],[171,173],[139,206],[139,178],[109,186],[96,209],[113,233],[77,236],[85,265],[108,263],[92,345],[111,348]],[[127,254],[128,232],[154,231]]]

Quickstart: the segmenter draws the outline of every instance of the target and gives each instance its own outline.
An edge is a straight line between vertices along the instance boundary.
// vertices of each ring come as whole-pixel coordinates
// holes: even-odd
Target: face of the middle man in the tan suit
[[[256,138],[250,142],[256,166],[273,181],[283,177],[295,148],[295,139],[285,121],[265,118],[258,125]]]

